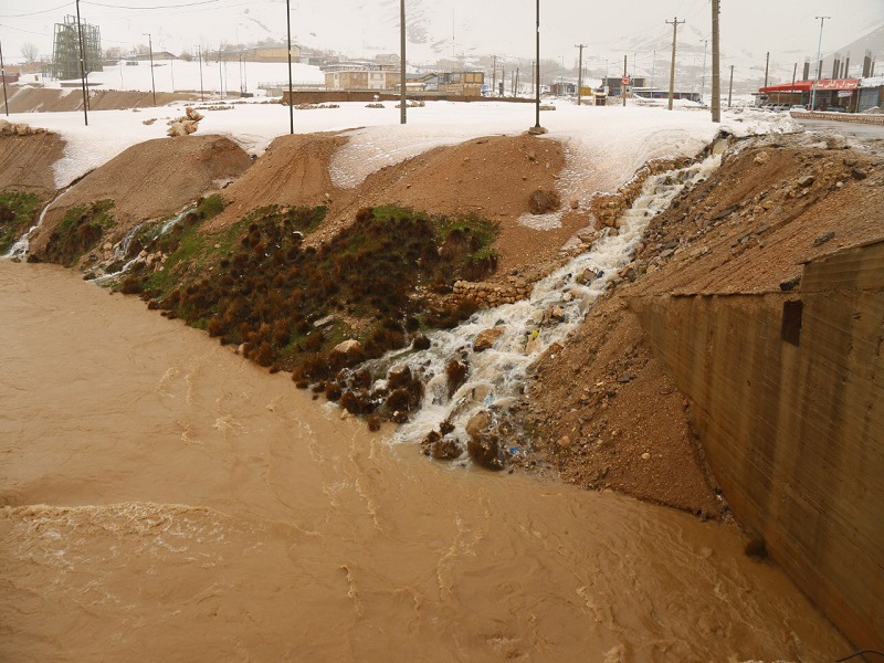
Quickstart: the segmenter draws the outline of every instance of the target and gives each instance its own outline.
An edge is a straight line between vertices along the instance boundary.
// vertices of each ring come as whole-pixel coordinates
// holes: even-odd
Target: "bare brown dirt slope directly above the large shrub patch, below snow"
[[[330,134],[277,138],[249,172],[224,190],[229,207],[209,229],[225,228],[267,204],[327,204],[326,221],[312,242],[328,241],[364,207],[396,204],[430,214],[473,214],[499,223],[494,245],[499,278],[555,257],[589,222],[581,210],[568,210],[562,227],[552,230],[518,222],[529,213],[534,191],[556,189],[565,156],[552,140],[493,136],[439,147],[383,168],[358,187],[340,189],[332,183],[328,168],[345,145],[346,138]],[[567,207],[567,201],[562,204]]]

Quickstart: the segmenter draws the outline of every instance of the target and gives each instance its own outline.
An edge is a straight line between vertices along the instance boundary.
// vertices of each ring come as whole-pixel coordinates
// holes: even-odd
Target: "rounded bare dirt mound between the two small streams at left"
[[[228,138],[188,136],[135,145],[74,185],[49,210],[31,239],[40,255],[67,210],[96,200],[114,201],[117,225],[105,239],[119,239],[141,221],[168,217],[200,196],[240,177],[252,164]]]

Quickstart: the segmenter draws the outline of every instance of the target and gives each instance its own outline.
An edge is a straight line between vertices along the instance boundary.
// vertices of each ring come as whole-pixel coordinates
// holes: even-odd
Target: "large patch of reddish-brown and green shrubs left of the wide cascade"
[[[496,266],[491,250],[496,227],[480,219],[366,208],[316,249],[302,244],[325,218],[324,207],[262,208],[214,234],[199,228],[204,209],[213,207],[198,207],[149,245],[137,236],[130,251],[160,251],[167,257],[161,270],[140,265],[123,291],[141,293],[164,315],[180,317],[222,343],[244,344],[245,356],[259,365],[291,369],[298,386],[314,382],[358,413],[381,408],[389,417],[402,417],[418,406],[422,388],[407,376],[383,399],[367,398],[356,396],[359,389],[343,378],[337,382],[338,371],[404,347],[408,335],[422,327],[457,324],[475,305],[431,305],[434,295],[450,293],[459,278],[482,278]],[[348,338],[360,347],[332,351]],[[358,381],[371,380],[362,376]]]

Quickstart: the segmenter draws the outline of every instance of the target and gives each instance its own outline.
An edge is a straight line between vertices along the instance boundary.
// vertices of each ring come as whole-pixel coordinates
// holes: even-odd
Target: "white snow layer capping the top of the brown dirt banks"
[[[688,107],[674,110],[596,107],[577,106],[570,101],[545,102],[545,105],[550,103],[556,109],[543,110],[540,124],[548,129],[546,137],[560,140],[567,150],[561,189],[568,196],[591,193],[588,187],[592,191],[613,191],[651,158],[694,156],[720,128],[740,136],[799,130],[788,116],[749,110],[726,113],[718,125],[711,122],[707,110]],[[288,133],[287,106],[259,98],[248,103],[228,101],[222,105],[227,109],[202,110],[200,134],[229,136],[251,154],[260,155],[274,138]],[[211,108],[212,104],[206,106]],[[92,112],[88,126],[84,126],[82,112],[18,114],[10,120],[61,134],[66,143],[64,158],[55,166],[55,181],[61,188],[131,145],[165,137],[167,120],[182,116],[185,107],[172,104],[138,110]],[[335,183],[345,187],[356,186],[386,166],[436,146],[487,135],[517,135],[535,124],[533,104],[494,101],[429,102],[425,107],[409,108],[406,125],[400,124],[399,109],[393,103],[386,103],[385,108],[368,108],[364,103],[295,108],[293,115],[295,133],[348,133],[347,147],[332,165]]]

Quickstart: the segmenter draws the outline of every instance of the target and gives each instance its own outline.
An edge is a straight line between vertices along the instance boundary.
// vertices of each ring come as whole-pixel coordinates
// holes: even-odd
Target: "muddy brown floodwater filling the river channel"
[[[434,463],[57,267],[0,324],[2,661],[850,652],[734,527]]]

